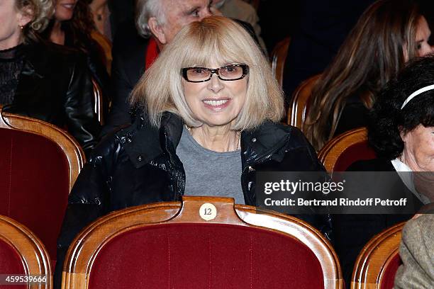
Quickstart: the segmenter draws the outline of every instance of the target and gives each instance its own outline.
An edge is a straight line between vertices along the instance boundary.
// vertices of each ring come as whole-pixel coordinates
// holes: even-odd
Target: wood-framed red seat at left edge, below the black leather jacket
[[[67,198],[84,154],[54,125],[1,114],[1,108],[0,115],[0,215],[34,232],[54,261]]]

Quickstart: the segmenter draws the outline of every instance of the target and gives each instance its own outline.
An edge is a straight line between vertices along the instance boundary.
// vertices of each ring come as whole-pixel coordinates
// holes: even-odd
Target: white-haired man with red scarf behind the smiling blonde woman
[[[113,41],[113,103],[103,134],[131,123],[128,96],[135,84],[182,27],[211,16],[211,4],[211,0],[137,1],[135,28],[133,23],[123,23],[119,30],[125,33],[118,33]]]

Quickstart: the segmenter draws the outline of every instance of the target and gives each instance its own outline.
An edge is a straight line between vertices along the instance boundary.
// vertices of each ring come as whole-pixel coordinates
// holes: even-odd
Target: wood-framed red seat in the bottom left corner
[[[0,215],[0,274],[2,289],[52,288],[50,259],[35,234],[20,223]],[[47,283],[6,285],[5,275],[45,276]],[[11,279],[9,279],[11,282]],[[12,282],[11,282],[12,283]]]

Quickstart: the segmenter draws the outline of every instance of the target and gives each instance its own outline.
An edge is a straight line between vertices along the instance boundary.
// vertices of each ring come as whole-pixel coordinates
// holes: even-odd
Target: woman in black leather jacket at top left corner
[[[86,62],[78,52],[38,37],[52,1],[0,1],[0,105],[4,111],[65,128],[89,152],[100,125]]]

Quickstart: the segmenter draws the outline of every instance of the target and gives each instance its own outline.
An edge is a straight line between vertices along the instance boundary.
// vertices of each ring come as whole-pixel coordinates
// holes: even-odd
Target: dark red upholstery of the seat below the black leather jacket
[[[55,259],[69,194],[69,167],[55,142],[0,128],[0,215],[33,231]]]

